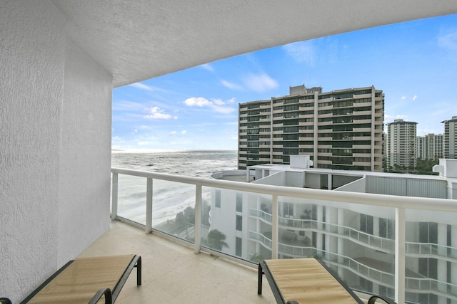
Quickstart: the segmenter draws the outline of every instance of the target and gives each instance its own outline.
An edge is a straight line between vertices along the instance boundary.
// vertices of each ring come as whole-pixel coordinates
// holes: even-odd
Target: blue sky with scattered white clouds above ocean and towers
[[[236,150],[238,103],[374,85],[385,123],[443,133],[457,115],[457,15],[291,43],[113,90],[116,149]]]

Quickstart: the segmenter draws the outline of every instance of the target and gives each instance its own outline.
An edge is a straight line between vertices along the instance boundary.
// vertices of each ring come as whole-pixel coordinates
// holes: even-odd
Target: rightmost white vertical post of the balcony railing
[[[406,277],[406,216],[405,209],[395,209],[395,300],[405,303]]]

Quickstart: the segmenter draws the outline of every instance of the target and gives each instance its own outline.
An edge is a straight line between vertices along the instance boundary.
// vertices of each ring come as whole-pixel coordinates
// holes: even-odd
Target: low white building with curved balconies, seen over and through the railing
[[[457,161],[441,159],[438,167],[441,168],[437,172],[446,172],[448,176],[274,164],[248,169],[255,172],[255,184],[327,189],[341,195],[360,192],[455,199],[457,187],[453,179],[457,177]],[[275,205],[267,194],[213,191],[211,230],[217,229],[226,236],[224,253],[253,262],[271,258],[272,234],[276,233],[278,258],[321,258],[354,290],[393,298],[394,209],[291,196],[278,197]],[[446,212],[411,209],[406,212],[406,303],[457,303],[454,218],[454,214]]]

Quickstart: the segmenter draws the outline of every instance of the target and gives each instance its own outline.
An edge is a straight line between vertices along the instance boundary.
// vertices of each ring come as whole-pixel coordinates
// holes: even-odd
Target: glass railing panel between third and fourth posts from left
[[[271,196],[203,187],[208,193],[210,224],[201,245],[258,263],[271,258]]]

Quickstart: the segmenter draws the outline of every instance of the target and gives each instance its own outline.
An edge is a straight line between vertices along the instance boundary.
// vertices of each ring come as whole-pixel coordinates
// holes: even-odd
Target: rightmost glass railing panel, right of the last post
[[[456,213],[406,210],[408,302],[457,300]]]

